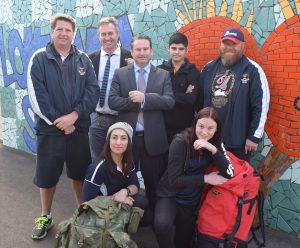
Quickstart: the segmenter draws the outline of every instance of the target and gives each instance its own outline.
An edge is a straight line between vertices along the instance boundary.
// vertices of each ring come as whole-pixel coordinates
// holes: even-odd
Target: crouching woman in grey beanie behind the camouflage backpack
[[[132,127],[126,122],[110,126],[97,162],[92,163],[83,183],[83,201],[98,195],[144,209],[146,197],[139,195],[139,181],[132,158]]]

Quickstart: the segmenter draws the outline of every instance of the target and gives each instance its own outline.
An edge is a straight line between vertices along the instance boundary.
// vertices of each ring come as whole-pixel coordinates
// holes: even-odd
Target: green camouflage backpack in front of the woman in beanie
[[[137,231],[143,213],[140,208],[98,196],[59,223],[54,247],[137,248],[129,234]]]

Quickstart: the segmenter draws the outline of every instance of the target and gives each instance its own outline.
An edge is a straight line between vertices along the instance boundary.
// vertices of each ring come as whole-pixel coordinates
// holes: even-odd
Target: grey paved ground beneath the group
[[[52,209],[55,225],[45,239],[32,240],[33,220],[40,214],[39,191],[32,183],[34,168],[35,156],[0,143],[0,248],[52,248],[57,223],[69,218],[76,207],[70,181],[63,174]],[[140,248],[158,247],[150,228],[140,228],[134,239]],[[267,229],[267,247],[299,248],[300,239]]]

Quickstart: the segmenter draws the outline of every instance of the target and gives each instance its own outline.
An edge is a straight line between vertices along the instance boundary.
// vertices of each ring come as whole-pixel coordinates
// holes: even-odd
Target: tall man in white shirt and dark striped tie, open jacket
[[[104,17],[99,21],[98,35],[101,49],[89,55],[100,86],[100,100],[95,112],[91,114],[89,130],[93,160],[101,153],[106,141],[107,130],[115,122],[117,115],[117,111],[111,110],[107,104],[114,71],[126,66],[132,60],[130,51],[118,45],[120,34],[117,20],[114,17]]]

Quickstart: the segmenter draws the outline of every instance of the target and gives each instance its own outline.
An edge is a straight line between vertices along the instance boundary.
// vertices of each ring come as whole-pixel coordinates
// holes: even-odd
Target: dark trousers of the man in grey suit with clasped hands
[[[144,178],[145,192],[149,201],[149,207],[154,211],[156,188],[164,167],[163,155],[149,155],[146,151],[144,136],[135,136],[133,140],[133,158],[136,168],[141,170]]]

